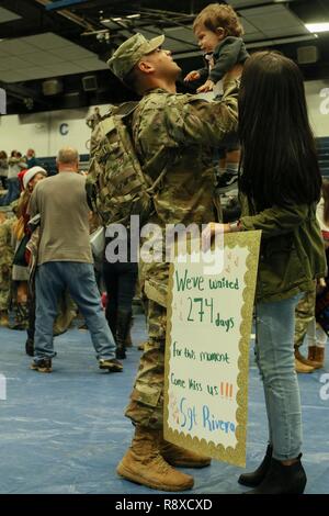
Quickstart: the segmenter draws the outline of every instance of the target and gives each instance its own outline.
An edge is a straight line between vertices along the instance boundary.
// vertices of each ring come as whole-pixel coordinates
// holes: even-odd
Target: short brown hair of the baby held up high
[[[226,3],[209,3],[195,18],[193,31],[204,26],[208,31],[216,32],[216,29],[223,27],[226,36],[241,37],[243,27],[239,22],[236,11]]]

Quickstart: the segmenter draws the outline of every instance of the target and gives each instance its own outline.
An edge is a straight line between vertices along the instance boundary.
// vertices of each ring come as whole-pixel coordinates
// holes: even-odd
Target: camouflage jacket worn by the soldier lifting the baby
[[[161,89],[151,90],[139,102],[133,119],[138,158],[152,182],[163,172],[154,195],[155,212],[147,222],[164,229],[166,224],[201,226],[218,220],[213,149],[236,131],[238,121],[238,82],[224,87],[219,102]],[[166,306],[168,263],[140,263],[140,271],[141,280],[146,277],[146,295],[152,283],[158,291],[151,289],[154,300]]]

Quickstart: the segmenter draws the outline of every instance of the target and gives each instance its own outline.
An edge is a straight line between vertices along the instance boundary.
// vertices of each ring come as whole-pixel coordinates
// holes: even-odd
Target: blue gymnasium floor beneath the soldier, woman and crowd
[[[145,338],[144,316],[133,328],[134,348],[123,373],[98,369],[87,332],[70,329],[56,338],[54,372],[29,370],[24,332],[0,328],[0,373],[7,377],[7,400],[0,400],[0,493],[155,493],[126,482],[115,465],[131,442],[133,427],[123,415]],[[329,400],[320,399],[327,367],[299,375],[304,417],[306,493],[329,493]],[[324,380],[324,377],[322,377]],[[329,389],[327,389],[329,393]],[[250,348],[248,469],[264,452],[266,424],[262,389]],[[241,493],[242,470],[216,460],[194,470],[190,493]],[[190,470],[191,472],[191,470]]]

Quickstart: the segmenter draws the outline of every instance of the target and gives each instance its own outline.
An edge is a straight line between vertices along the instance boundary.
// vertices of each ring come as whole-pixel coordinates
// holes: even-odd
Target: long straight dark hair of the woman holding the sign
[[[239,134],[240,190],[257,210],[319,200],[321,175],[303,76],[294,61],[275,52],[259,52],[247,60]]]

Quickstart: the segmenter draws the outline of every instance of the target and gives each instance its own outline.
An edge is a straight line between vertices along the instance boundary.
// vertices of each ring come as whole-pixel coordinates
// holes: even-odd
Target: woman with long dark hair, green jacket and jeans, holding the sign
[[[269,446],[260,467],[240,475],[248,494],[303,493],[302,411],[294,369],[295,306],[326,259],[316,203],[320,199],[315,141],[298,67],[275,52],[253,54],[239,92],[242,146],[241,217],[209,223],[216,232],[261,229],[256,293],[257,361],[269,419]],[[261,149],[261,152],[260,152]]]

